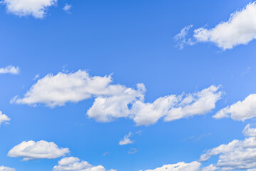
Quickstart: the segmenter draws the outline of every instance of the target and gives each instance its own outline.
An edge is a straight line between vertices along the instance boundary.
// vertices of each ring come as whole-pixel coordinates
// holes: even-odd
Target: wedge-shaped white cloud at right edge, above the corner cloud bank
[[[245,100],[238,101],[237,103],[222,108],[213,117],[232,118],[233,120],[247,120],[256,116],[256,94],[250,94]]]

